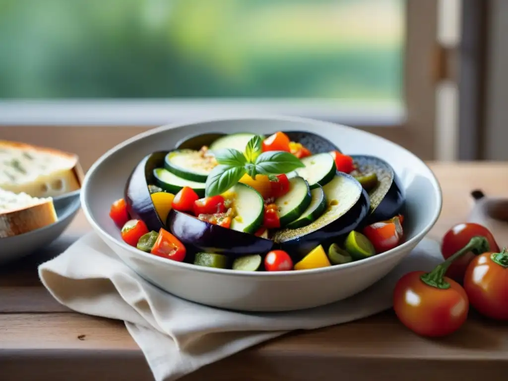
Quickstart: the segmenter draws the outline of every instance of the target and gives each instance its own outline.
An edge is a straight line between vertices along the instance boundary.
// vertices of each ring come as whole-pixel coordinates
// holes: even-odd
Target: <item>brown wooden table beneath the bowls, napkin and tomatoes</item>
[[[432,163],[431,168],[443,191],[442,213],[430,233],[433,238],[464,220],[471,189],[508,196],[508,164]],[[89,229],[80,214],[50,248],[0,270],[1,380],[152,379],[122,322],[72,312],[55,302],[39,282],[37,264]],[[506,243],[508,237],[499,242]],[[455,334],[429,340],[406,330],[393,312],[385,312],[354,323],[295,332],[181,379],[428,381],[438,374],[461,381],[506,379],[508,325],[473,313]]]

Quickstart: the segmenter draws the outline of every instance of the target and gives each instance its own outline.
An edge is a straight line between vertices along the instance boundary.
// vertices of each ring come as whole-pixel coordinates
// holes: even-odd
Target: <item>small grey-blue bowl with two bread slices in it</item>
[[[0,140],[0,264],[49,245],[80,207],[78,157]]]

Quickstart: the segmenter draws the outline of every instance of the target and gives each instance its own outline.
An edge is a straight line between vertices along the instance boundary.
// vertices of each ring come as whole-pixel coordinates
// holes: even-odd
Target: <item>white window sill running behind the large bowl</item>
[[[397,126],[406,119],[396,102],[340,100],[0,100],[0,125],[162,125],[199,116],[292,115],[346,125]]]

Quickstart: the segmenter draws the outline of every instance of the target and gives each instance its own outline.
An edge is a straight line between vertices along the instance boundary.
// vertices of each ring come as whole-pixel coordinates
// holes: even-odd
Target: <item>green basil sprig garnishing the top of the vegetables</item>
[[[206,196],[226,192],[246,173],[252,179],[256,179],[257,174],[262,174],[268,175],[271,181],[277,181],[275,175],[305,167],[299,158],[289,152],[262,152],[262,143],[263,138],[257,135],[249,140],[244,153],[234,148],[215,151],[215,160],[219,165],[206,179]]]

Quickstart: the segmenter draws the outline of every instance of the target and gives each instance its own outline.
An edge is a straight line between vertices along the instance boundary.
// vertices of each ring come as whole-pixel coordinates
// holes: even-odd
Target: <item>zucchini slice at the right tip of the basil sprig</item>
[[[309,183],[310,189],[328,184],[337,171],[335,161],[328,152],[304,157],[301,162],[305,167],[298,168],[295,173],[296,176],[303,177]]]

